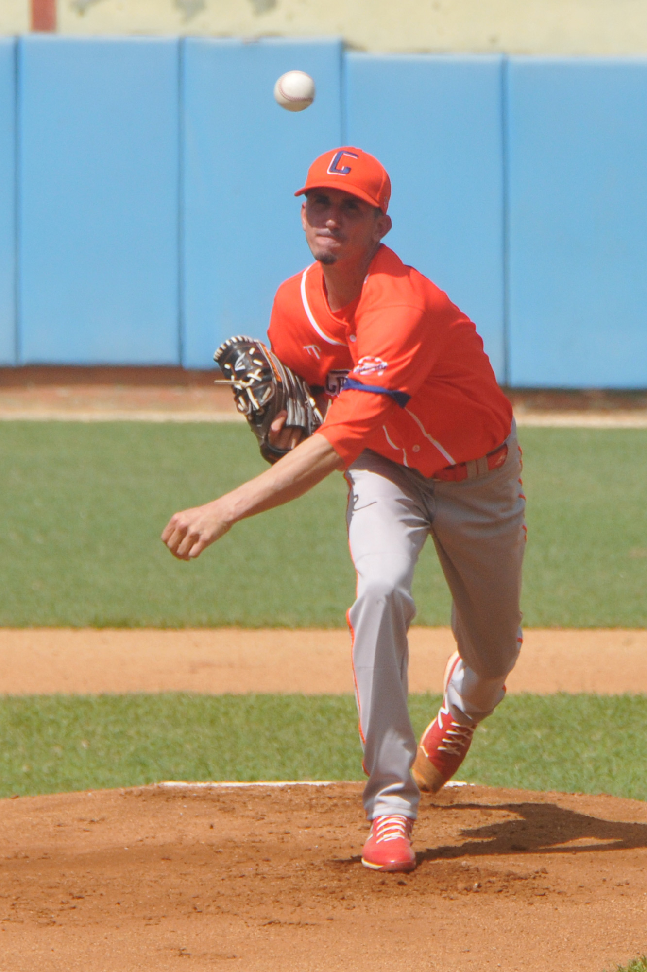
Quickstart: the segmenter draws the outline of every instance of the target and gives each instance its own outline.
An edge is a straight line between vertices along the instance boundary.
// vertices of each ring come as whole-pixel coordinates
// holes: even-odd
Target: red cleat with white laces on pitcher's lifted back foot
[[[445,692],[459,658],[459,652],[455,651],[447,662],[443,680]],[[467,755],[475,728],[456,722],[447,707],[447,697],[443,699],[438,714],[421,737],[411,767],[411,776],[420,790],[437,793],[441,786],[452,779]]]

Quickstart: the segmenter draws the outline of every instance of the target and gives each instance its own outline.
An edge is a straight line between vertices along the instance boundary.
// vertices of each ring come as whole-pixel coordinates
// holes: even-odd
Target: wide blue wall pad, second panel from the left
[[[179,364],[179,41],[18,42],[20,364]]]

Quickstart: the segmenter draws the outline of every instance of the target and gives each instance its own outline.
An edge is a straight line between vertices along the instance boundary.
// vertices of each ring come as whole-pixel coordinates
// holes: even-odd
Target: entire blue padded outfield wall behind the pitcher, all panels
[[[293,68],[302,113],[272,97]],[[212,366],[311,260],[292,193],[351,143],[499,379],[646,387],[646,104],[645,59],[0,40],[0,364]]]

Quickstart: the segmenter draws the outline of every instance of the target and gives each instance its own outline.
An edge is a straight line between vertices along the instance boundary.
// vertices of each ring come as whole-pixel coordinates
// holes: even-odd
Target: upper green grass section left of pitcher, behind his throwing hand
[[[237,425],[0,425],[0,625],[340,627],[355,576],[341,476],[247,520],[190,564],[177,509],[266,469]]]

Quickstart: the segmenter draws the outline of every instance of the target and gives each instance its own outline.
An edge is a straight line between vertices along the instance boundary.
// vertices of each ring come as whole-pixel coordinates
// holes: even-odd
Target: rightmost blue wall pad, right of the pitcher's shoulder
[[[647,387],[647,59],[508,72],[510,383]]]

